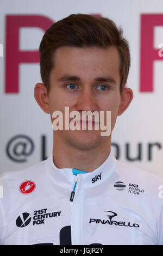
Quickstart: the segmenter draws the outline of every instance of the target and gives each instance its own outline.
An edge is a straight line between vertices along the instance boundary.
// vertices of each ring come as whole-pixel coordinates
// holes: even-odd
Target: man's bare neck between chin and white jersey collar
[[[89,173],[97,169],[110,154],[111,136],[93,149],[76,149],[55,136],[53,162],[57,168],[74,168]]]

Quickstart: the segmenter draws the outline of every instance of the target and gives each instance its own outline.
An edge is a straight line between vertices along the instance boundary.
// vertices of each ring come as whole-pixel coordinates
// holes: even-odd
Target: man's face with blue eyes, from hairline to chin
[[[61,111],[64,116],[65,106],[70,112],[104,111],[105,117],[106,111],[111,111],[112,131],[121,103],[120,57],[116,47],[106,50],[98,47],[60,47],[55,51],[53,61],[48,95],[52,123],[53,112]],[[70,147],[93,149],[109,138],[101,136],[101,132],[100,129],[58,130],[54,131],[54,139],[60,136]]]

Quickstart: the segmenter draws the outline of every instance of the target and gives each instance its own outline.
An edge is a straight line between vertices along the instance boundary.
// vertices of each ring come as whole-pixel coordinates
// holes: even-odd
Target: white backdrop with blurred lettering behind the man
[[[133,89],[134,99],[127,111],[117,118],[116,127],[112,133],[112,143],[118,145],[119,160],[163,176],[163,58],[153,61],[153,92],[140,92],[141,15],[162,15],[162,25],[155,26],[154,37],[149,38],[153,40],[153,48],[158,48],[159,44],[163,44],[162,0],[1,0],[0,44],[3,45],[3,57],[0,57],[0,173],[32,166],[42,161],[43,157],[48,157],[53,147],[50,115],[44,113],[34,99],[34,86],[37,82],[41,82],[39,63],[21,63],[18,66],[18,93],[8,93],[5,90],[6,17],[7,15],[41,15],[56,22],[77,13],[99,14],[109,17],[118,26],[122,26],[124,36],[130,45],[131,68],[127,85]],[[15,25],[12,24],[12,29],[14,28]],[[39,27],[21,27],[18,33],[19,51],[38,51],[45,32]],[[14,42],[15,39],[10,40]],[[11,54],[11,60],[13,56]],[[14,81],[12,76],[10,78],[12,87]],[[150,143],[157,143],[152,148],[151,159],[149,159]],[[140,145],[141,159],[135,161],[128,159],[127,144],[129,144],[128,155],[131,159],[138,157]],[[116,156],[114,145],[112,145],[112,151]]]

